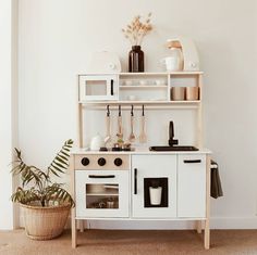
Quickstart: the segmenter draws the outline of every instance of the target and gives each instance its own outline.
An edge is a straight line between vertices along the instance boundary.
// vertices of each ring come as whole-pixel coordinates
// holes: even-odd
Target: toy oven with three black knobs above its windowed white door
[[[76,217],[128,217],[128,155],[77,155],[75,160]]]

